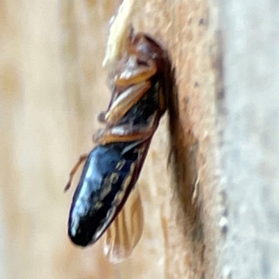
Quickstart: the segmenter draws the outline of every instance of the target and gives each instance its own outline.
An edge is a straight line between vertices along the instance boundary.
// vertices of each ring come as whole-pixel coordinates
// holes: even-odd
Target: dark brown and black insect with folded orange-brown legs
[[[110,227],[107,250],[110,245],[119,249],[121,241],[116,241],[117,229],[112,236],[112,226],[117,223],[116,216],[128,196],[134,192],[151,138],[165,113],[169,73],[165,50],[150,36],[131,32],[126,51],[109,75],[112,98],[107,111],[98,116],[105,128],[93,136],[97,146],[80,157],[66,186],[67,190],[77,168],[86,160],[68,220],[68,235],[77,246],[95,243]],[[138,194],[135,200],[140,203]],[[141,213],[136,216],[142,218]],[[118,226],[126,229],[123,228],[125,220],[121,221],[122,225],[119,222]],[[142,230],[142,225],[137,227]],[[121,233],[121,228],[118,231]],[[141,233],[137,232],[139,236]],[[135,246],[140,237],[136,239],[130,246]]]

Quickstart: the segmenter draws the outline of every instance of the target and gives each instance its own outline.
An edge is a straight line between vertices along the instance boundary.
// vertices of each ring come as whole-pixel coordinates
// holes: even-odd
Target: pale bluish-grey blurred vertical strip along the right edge
[[[279,6],[228,1],[224,47],[222,259],[227,278],[279,278]],[[225,277],[224,276],[224,277]]]

